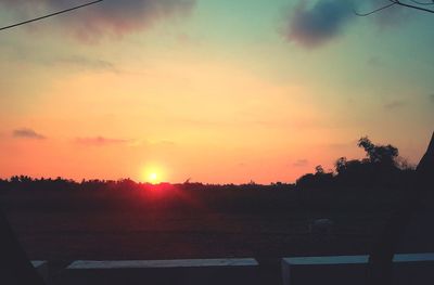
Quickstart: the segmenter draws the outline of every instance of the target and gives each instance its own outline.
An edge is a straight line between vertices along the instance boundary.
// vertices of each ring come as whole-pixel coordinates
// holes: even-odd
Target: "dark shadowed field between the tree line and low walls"
[[[367,254],[401,198],[362,189],[0,191],[29,258],[44,260]],[[331,236],[309,233],[318,218],[335,222]]]

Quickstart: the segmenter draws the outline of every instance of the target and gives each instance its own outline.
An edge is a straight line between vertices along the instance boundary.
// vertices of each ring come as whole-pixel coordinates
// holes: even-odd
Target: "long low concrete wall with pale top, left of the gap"
[[[74,261],[62,273],[65,285],[240,285],[258,284],[258,263],[243,259]]]

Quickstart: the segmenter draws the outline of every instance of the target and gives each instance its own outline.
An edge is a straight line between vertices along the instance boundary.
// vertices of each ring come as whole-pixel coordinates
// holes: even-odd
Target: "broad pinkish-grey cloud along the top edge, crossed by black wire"
[[[0,0],[0,4],[21,17],[29,17],[75,7],[80,2]],[[159,21],[183,16],[194,4],[195,0],[104,0],[50,21],[68,28],[78,39],[93,42],[104,36],[122,37],[125,34],[150,28]]]

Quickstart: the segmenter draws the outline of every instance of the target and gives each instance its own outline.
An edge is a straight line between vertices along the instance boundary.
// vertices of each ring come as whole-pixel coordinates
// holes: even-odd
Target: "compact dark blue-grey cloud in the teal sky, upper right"
[[[349,1],[320,0],[312,7],[298,1],[286,18],[285,38],[305,48],[317,48],[340,36],[354,18]]]

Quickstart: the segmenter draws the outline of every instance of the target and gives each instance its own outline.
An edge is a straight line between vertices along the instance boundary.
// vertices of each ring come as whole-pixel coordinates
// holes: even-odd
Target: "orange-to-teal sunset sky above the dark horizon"
[[[0,0],[0,26],[85,2]],[[105,0],[0,31],[0,178],[294,182],[363,135],[417,164],[434,14],[354,13],[387,2]]]

